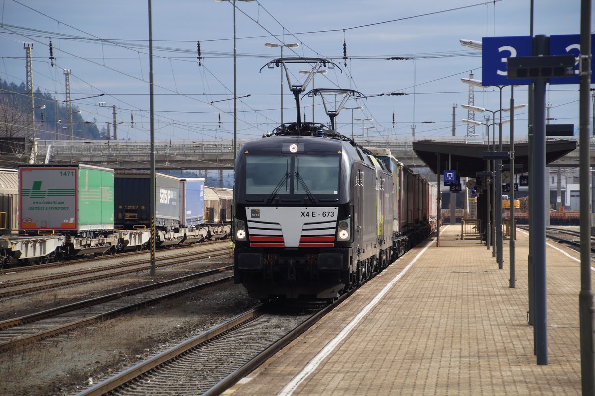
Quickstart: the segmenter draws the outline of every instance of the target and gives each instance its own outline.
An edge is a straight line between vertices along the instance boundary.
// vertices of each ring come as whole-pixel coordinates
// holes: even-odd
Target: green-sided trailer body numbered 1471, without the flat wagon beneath
[[[114,169],[20,165],[20,229],[39,234],[114,229]]]

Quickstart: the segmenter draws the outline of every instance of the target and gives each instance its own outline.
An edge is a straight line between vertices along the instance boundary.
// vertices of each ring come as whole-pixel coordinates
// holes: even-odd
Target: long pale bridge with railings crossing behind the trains
[[[421,140],[421,139],[418,139]],[[424,140],[449,143],[486,144],[481,137],[431,137]],[[571,138],[572,140],[572,138]],[[238,150],[248,140],[238,140]],[[393,155],[412,168],[426,166],[414,152],[411,137],[400,139],[356,138],[362,146],[388,147]],[[527,137],[515,139],[516,143],[527,142]],[[490,145],[493,142],[489,142]],[[508,144],[508,141],[503,144]],[[14,166],[30,162],[33,147],[23,143],[21,155],[14,155],[6,149],[0,153],[0,166]],[[8,150],[10,151],[10,150]],[[130,140],[43,140],[37,141],[35,162],[37,163],[84,163],[107,166],[114,169],[149,169],[151,146],[148,141]],[[29,155],[28,155],[29,154]],[[18,157],[18,158],[17,158]],[[590,163],[595,164],[595,137],[590,142]],[[578,166],[578,146],[550,166]],[[156,169],[231,169],[233,168],[233,143],[226,141],[167,140],[155,143]]]

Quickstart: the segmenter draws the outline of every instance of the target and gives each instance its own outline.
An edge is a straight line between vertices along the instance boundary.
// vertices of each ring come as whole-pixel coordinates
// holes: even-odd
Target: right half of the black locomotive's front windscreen
[[[337,155],[296,155],[293,165],[293,193],[306,194],[305,185],[313,195],[338,194],[339,159]]]

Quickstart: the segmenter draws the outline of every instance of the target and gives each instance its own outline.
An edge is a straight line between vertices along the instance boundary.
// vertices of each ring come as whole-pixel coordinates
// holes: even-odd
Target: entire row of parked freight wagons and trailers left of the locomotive
[[[0,239],[0,267],[148,249],[150,175],[117,173],[83,164],[0,171],[0,232],[9,235]],[[156,247],[228,236],[227,189],[209,202],[211,213],[217,209],[217,224],[205,224],[203,179],[156,174],[156,187]],[[25,205],[22,216],[20,205]]]

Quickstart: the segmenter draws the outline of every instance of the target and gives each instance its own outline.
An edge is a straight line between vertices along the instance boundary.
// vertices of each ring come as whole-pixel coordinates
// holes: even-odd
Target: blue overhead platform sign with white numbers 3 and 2
[[[550,78],[550,84],[578,84],[578,55],[580,54],[580,34],[555,34],[550,36],[549,55],[572,54],[577,58],[575,77]],[[481,82],[490,85],[528,85],[531,78],[509,80],[506,58],[533,55],[531,36],[483,37]],[[591,48],[595,48],[595,34],[591,34]],[[595,62],[591,62],[591,84],[595,83]]]

